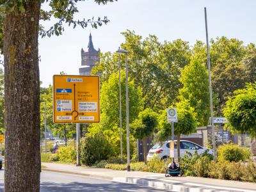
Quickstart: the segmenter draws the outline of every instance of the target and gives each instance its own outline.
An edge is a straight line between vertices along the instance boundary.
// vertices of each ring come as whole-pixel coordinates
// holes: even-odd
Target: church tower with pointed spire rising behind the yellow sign
[[[91,70],[95,63],[100,61],[99,51],[96,51],[92,43],[92,35],[90,33],[89,42],[86,49],[81,49],[81,67],[79,68],[79,74],[82,76],[90,76]]]

